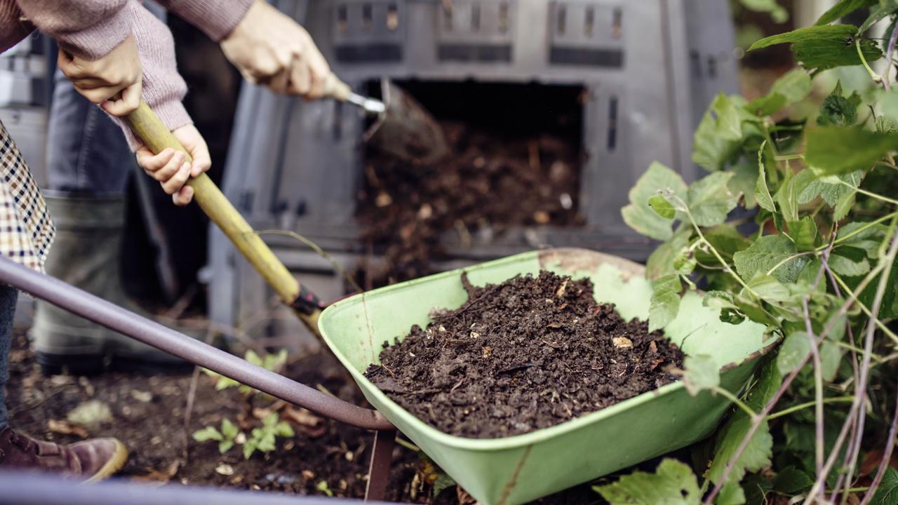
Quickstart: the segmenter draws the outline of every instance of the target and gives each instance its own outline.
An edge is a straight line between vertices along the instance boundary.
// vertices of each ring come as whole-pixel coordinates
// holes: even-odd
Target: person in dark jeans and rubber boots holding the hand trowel
[[[268,85],[276,93],[310,99],[321,96],[322,77],[330,73],[327,62],[309,33],[271,5],[251,0],[156,3],[219,43],[226,58],[247,80]],[[145,4],[151,11],[155,6]],[[294,65],[301,57],[308,65]],[[48,275],[152,317],[128,299],[120,275],[125,193],[134,156],[119,126],[95,107],[90,97],[79,93],[75,81],[64,74],[69,68],[67,60],[61,63],[63,71],[57,71],[49,113],[44,188],[57,234],[45,268]],[[69,73],[77,79],[77,72]],[[94,101],[98,99],[96,93],[85,93],[92,94]],[[205,149],[203,155],[207,156]],[[156,164],[163,161],[158,158]],[[29,337],[45,375],[64,369],[77,375],[92,374],[109,365],[155,373],[186,365],[181,359],[41,300]]]

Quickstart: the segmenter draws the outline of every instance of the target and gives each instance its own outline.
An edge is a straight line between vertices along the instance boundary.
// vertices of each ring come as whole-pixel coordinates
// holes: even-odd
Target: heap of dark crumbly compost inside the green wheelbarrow
[[[683,355],[549,271],[471,286],[468,301],[381,352],[366,376],[439,430],[492,439],[547,428],[675,380]]]

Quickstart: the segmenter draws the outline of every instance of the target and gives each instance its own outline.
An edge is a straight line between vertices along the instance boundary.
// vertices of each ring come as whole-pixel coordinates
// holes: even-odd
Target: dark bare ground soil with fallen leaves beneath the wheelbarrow
[[[344,400],[365,404],[346,371],[329,354],[293,360],[282,373]],[[242,430],[248,431],[247,427],[259,424],[257,416],[264,415],[272,406],[278,407],[278,403],[256,401],[257,412],[253,415],[236,389],[216,391],[213,379],[199,374],[192,415],[185,430],[184,412],[191,381],[190,374],[43,377],[28,342],[19,334],[10,353],[6,398],[13,428],[31,436],[60,443],[75,442],[85,436],[122,440],[130,454],[119,478],[153,485],[187,484],[317,495],[325,494],[318,488],[323,481],[334,496],[364,497],[373,441],[370,432],[303,412],[306,415],[300,418],[304,423],[294,423],[296,437],[278,439],[276,451],[266,455],[256,453],[249,460],[243,459],[239,447],[221,455],[216,443],[196,442],[189,439],[189,433],[204,426],[220,426],[224,417],[242,424]],[[68,412],[92,400],[109,405],[110,421],[86,429],[66,424]],[[282,407],[282,414],[283,409],[286,407]],[[75,433],[66,434],[66,430]],[[473,503],[456,486],[433,498],[435,478],[435,468],[427,459],[397,446],[387,499],[404,503]],[[581,485],[537,503],[603,501],[589,485]]]

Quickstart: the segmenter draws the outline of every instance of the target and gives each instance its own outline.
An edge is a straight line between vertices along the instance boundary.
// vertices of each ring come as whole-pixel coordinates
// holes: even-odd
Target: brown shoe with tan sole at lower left
[[[67,446],[31,439],[10,428],[0,430],[0,470],[58,472],[93,483],[115,474],[128,460],[117,439],[91,439]]]

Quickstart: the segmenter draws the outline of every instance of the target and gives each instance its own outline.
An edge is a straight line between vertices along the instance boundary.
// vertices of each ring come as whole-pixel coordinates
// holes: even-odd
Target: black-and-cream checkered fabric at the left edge
[[[42,272],[55,233],[28,164],[0,122],[0,254]]]

